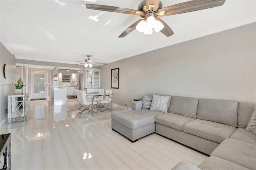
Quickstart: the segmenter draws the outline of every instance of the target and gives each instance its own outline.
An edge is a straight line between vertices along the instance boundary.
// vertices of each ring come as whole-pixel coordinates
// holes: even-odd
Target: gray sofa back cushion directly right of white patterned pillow
[[[172,96],[168,112],[196,118],[197,106],[198,99],[196,98]]]

